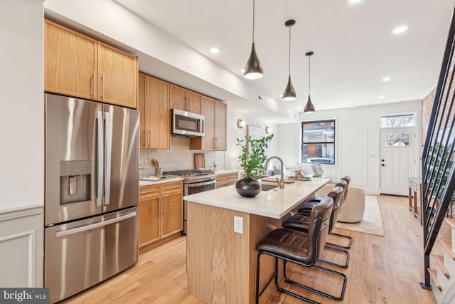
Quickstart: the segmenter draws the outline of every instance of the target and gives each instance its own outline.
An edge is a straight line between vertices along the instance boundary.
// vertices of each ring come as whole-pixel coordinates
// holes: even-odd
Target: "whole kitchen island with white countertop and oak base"
[[[255,303],[257,242],[328,182],[297,181],[255,198],[241,197],[235,186],[185,196],[189,293],[205,303]],[[261,286],[273,268],[272,258],[262,258],[261,265],[268,266],[261,267]]]

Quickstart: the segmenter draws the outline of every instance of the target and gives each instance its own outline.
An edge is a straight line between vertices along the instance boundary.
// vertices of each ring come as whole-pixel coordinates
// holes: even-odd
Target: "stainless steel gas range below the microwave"
[[[163,174],[183,177],[183,195],[213,190],[216,187],[216,174],[212,170],[177,170]],[[186,201],[183,201],[183,235],[186,234],[186,204]]]

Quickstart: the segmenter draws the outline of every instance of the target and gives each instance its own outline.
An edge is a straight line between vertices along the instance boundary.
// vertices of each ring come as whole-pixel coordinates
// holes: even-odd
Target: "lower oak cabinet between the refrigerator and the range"
[[[139,188],[139,246],[183,230],[183,181]]]

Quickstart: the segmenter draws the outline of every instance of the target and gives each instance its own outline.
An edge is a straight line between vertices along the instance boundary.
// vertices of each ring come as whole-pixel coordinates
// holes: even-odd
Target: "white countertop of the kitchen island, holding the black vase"
[[[301,201],[311,196],[324,184],[330,182],[330,180],[328,178],[312,178],[310,181],[296,181],[292,184],[285,184],[284,189],[277,187],[269,191],[261,191],[255,198],[240,196],[235,191],[235,185],[232,185],[187,195],[183,199],[199,204],[280,219]]]

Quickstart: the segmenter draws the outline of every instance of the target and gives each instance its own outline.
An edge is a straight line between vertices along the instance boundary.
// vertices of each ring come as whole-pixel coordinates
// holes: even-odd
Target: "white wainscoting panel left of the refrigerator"
[[[0,210],[0,286],[43,287],[43,206]]]

